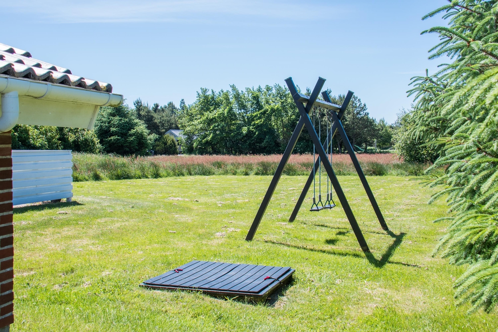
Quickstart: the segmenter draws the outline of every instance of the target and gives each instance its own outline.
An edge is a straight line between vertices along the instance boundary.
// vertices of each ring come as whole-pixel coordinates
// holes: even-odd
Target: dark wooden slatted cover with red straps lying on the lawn
[[[266,299],[294,273],[290,267],[231,264],[193,260],[148,279],[142,287],[191,290],[223,297]]]

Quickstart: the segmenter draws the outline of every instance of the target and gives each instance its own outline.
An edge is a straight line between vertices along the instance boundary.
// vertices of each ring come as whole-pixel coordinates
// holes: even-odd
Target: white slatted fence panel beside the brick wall
[[[71,150],[12,150],[12,204],[73,197]]]

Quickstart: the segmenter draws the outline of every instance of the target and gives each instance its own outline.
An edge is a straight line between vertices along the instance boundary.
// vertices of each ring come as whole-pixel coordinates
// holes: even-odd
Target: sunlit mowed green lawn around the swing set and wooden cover
[[[431,256],[446,226],[431,221],[446,207],[426,204],[434,191],[420,178],[369,178],[390,234],[359,179],[339,178],[372,255],[360,250],[337,200],[312,213],[308,199],[287,223],[302,176],[282,177],[245,241],[270,179],[74,183],[74,203],[15,209],[13,331],[497,330],[496,312],[455,306],[452,284],[464,267]],[[265,304],[138,287],[193,259],[296,272]]]

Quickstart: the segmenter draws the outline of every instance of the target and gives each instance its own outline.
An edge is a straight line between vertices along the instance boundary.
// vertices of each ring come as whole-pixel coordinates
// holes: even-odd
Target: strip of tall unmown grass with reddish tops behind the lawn
[[[390,153],[358,154],[366,175],[418,176],[427,164],[405,163]],[[123,157],[111,154],[73,153],[74,181],[124,179],[155,179],[189,175],[273,175],[282,155],[179,155],[154,157]],[[333,156],[337,175],[355,175],[356,170],[347,154]],[[295,154],[289,159],[285,175],[309,175],[313,156]],[[325,170],[322,169],[325,176]]]

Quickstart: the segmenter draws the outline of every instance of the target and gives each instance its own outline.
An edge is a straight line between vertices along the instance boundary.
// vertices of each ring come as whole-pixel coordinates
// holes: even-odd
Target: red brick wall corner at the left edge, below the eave
[[[14,322],[11,143],[10,131],[0,133],[0,332]]]

